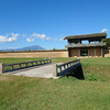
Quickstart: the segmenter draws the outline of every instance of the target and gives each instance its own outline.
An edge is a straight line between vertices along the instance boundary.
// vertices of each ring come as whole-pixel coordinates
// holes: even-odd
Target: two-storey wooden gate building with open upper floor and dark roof
[[[68,41],[68,57],[105,57],[107,33],[95,33],[84,35],[70,35],[64,40]]]

